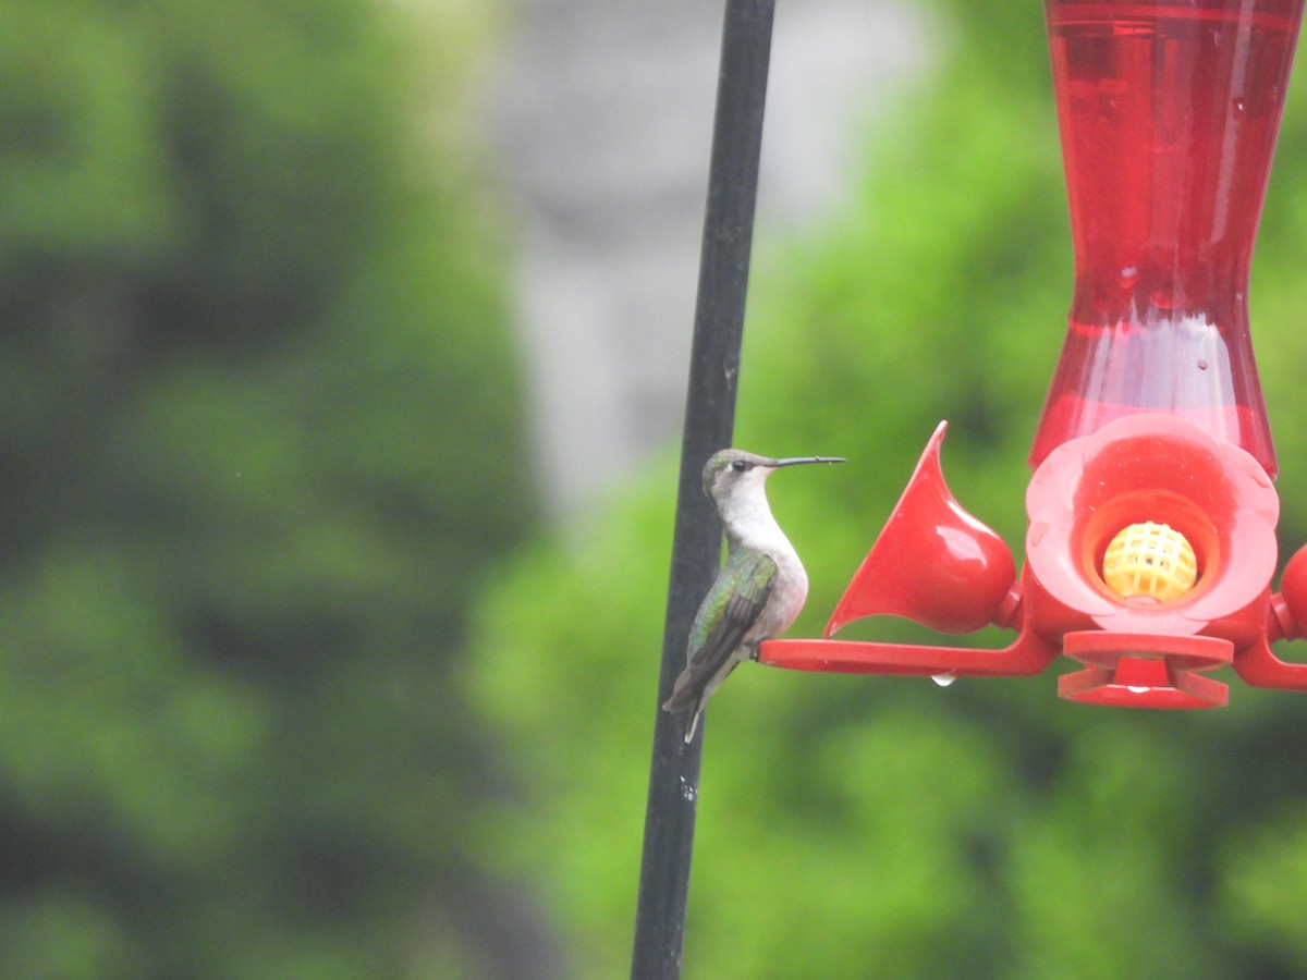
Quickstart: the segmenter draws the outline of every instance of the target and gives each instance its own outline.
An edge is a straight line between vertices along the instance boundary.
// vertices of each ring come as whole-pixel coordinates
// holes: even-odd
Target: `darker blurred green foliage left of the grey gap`
[[[0,0],[3,976],[520,975],[450,669],[532,498],[443,14]]]

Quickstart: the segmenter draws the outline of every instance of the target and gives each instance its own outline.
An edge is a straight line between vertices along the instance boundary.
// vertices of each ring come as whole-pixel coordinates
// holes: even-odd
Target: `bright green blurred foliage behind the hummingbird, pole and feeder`
[[[819,634],[940,418],[962,503],[1023,538],[1070,290],[1047,48],[1030,0],[949,13],[848,206],[755,263],[737,444],[851,460],[771,482],[813,583],[792,635]],[[1252,294],[1285,555],[1307,538],[1304,172],[1299,72]],[[469,696],[527,787],[478,815],[481,853],[557,896],[578,977],[629,958],[673,487],[669,451],[480,608]],[[1222,711],[1127,712],[1052,674],[737,672],[707,719],[685,975],[1300,976],[1307,700],[1234,681]]]

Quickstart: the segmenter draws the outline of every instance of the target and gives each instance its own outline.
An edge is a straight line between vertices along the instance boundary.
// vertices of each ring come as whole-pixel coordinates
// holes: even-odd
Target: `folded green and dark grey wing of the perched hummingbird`
[[[776,580],[776,563],[759,551],[736,551],[699,606],[690,630],[690,664],[676,678],[667,711],[691,707],[757,622]]]

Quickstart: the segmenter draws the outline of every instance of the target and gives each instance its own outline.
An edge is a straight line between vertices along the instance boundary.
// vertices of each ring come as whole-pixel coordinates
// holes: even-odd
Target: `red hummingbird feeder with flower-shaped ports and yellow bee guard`
[[[1074,248],[1061,358],[1030,453],[1025,567],[954,500],[941,423],[825,639],[774,666],[1029,676],[1070,700],[1225,704],[1205,676],[1307,690],[1307,547],[1276,568],[1276,457],[1248,273],[1307,0],[1046,0]],[[1002,649],[830,639],[870,615],[1017,632]]]

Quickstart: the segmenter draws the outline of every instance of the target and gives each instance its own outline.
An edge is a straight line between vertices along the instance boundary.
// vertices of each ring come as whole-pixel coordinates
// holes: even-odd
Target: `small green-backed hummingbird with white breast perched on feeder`
[[[718,686],[758,644],[784,632],[808,598],[808,574],[789,538],[771,516],[765,485],[782,466],[843,463],[839,456],[771,459],[744,449],[715,452],[703,466],[703,493],[727,536],[727,561],[703,597],[690,629],[685,670],[664,711],[691,711],[689,743]]]

